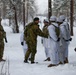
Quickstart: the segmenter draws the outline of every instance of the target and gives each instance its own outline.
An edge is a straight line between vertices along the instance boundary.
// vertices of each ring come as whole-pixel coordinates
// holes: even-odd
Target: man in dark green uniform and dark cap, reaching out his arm
[[[23,32],[23,34],[24,34],[23,39],[24,39],[24,42],[27,46],[26,53],[24,56],[25,63],[28,63],[28,59],[29,59],[30,55],[31,55],[31,57],[30,57],[31,64],[35,63],[34,60],[35,60],[35,54],[37,52],[37,50],[36,50],[37,36],[39,35],[39,36],[48,38],[48,35],[41,31],[38,23],[39,23],[39,18],[35,17],[33,22],[29,23],[25,27],[25,30]]]

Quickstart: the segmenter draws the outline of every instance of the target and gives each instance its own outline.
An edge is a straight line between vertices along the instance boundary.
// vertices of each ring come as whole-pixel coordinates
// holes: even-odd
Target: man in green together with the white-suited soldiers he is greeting
[[[48,67],[68,63],[68,45],[72,40],[70,36],[69,24],[64,15],[44,19],[44,27],[39,28],[39,18],[35,17],[33,22],[29,23],[23,32],[21,45],[25,46],[24,63],[28,63],[30,58],[31,64],[35,63],[35,54],[37,52],[37,36],[42,37],[42,44],[45,48],[47,59],[50,61]],[[24,43],[23,43],[24,42]]]

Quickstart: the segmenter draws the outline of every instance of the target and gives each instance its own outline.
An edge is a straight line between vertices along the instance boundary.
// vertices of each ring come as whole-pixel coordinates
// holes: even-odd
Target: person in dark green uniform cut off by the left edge
[[[4,39],[6,38],[6,32],[4,31],[2,25],[1,25],[2,19],[0,18],[0,62],[5,61],[3,59],[3,52],[4,52]],[[7,42],[7,39],[5,39],[5,42]]]

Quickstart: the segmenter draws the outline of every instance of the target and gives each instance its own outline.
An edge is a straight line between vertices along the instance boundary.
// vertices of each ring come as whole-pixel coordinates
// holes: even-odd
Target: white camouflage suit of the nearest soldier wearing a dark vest
[[[52,24],[58,27],[57,23],[52,23]],[[48,26],[48,31],[49,31],[48,48],[50,52],[51,64],[57,65],[59,64],[59,55],[58,55],[59,42],[57,42],[58,37],[55,32],[55,27],[52,24]]]

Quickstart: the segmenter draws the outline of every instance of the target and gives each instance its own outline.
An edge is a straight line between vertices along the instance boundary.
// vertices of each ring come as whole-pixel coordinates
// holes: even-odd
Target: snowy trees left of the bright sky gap
[[[9,19],[9,26],[14,33],[19,33],[19,25],[23,24],[25,16],[26,23],[28,19],[36,15],[36,5],[34,0],[0,0],[0,16],[3,19]]]

